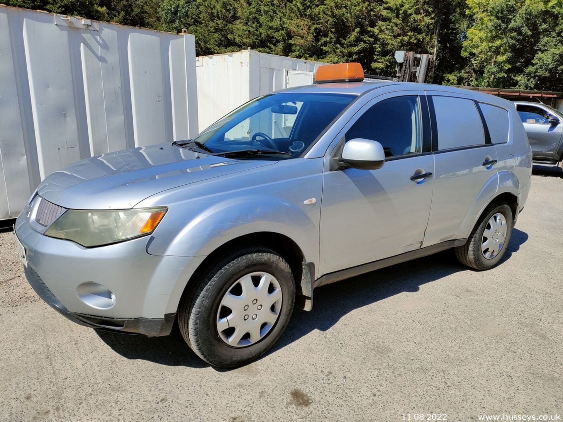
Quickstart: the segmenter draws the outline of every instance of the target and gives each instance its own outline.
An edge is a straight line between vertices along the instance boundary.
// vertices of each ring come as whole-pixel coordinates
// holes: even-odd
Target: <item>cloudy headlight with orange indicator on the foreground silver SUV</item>
[[[52,223],[44,235],[72,240],[82,246],[101,246],[151,234],[167,208],[112,211],[69,209]]]

